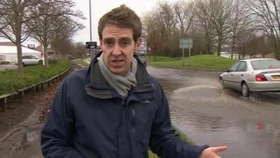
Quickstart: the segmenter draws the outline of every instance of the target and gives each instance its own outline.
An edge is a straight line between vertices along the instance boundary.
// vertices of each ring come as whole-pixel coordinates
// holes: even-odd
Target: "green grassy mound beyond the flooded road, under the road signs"
[[[158,67],[214,71],[223,71],[236,61],[216,55],[193,55],[190,57],[190,65],[189,58],[185,58],[185,66],[183,67],[183,60],[181,58],[157,56],[154,60],[154,57],[151,56],[146,57],[146,60],[148,60],[150,65]]]

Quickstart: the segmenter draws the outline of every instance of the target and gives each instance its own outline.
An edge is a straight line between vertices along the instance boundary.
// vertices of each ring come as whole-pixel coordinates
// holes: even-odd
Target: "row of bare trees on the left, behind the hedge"
[[[35,39],[43,46],[45,67],[48,67],[48,46],[57,56],[68,52],[73,35],[84,27],[79,19],[84,17],[75,9],[73,0],[0,0],[0,37],[17,46],[20,74],[23,73],[23,41]]]

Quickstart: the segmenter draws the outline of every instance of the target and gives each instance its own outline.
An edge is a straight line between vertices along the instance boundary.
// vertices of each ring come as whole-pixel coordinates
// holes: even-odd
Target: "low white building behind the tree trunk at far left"
[[[6,43],[6,46],[3,45],[0,44],[0,61],[18,62],[17,46],[8,43]],[[24,55],[34,55],[38,58],[42,57],[41,52],[22,46],[22,56]]]

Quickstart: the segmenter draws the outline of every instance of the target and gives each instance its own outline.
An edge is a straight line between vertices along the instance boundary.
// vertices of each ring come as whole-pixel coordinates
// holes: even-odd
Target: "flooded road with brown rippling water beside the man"
[[[173,124],[197,145],[227,145],[231,158],[280,157],[280,94],[222,90],[219,72],[148,67],[169,98]]]

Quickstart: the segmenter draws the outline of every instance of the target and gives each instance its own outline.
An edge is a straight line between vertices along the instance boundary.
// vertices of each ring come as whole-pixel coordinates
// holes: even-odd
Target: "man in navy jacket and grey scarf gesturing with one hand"
[[[198,147],[175,134],[167,98],[134,55],[141,21],[122,5],[98,26],[102,53],[67,77],[41,132],[46,158],[218,158],[226,147]]]

